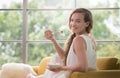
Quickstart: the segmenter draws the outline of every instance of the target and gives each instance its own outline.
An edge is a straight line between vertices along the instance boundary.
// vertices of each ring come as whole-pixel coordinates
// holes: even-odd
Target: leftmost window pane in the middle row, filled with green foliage
[[[0,11],[0,40],[22,39],[22,12]]]

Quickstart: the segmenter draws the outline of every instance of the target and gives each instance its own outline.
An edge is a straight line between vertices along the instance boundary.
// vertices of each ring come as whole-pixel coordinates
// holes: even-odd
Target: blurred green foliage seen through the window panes
[[[119,7],[119,0],[114,2],[115,7]],[[64,2],[63,2],[64,3]],[[109,1],[108,1],[109,4]],[[99,3],[94,7],[108,7],[109,5]],[[45,5],[45,0],[31,0],[29,8],[38,8]],[[10,8],[22,8],[21,3],[13,3]],[[58,5],[57,8],[62,8]],[[118,10],[91,10],[94,19],[93,35],[96,40],[117,40],[120,35],[111,32],[105,21],[112,17],[114,27],[120,27]],[[27,11],[27,39],[46,40],[44,37],[45,29],[53,30],[55,38],[65,40],[70,34],[68,27],[69,11]],[[0,11],[0,40],[22,40],[22,12],[21,11]],[[63,47],[64,42],[60,43]],[[7,62],[22,62],[22,43],[1,42],[0,43],[0,65]],[[97,43],[97,56],[120,58],[120,45],[113,43]],[[52,43],[28,42],[27,43],[28,63],[36,65],[40,60],[56,53]]]

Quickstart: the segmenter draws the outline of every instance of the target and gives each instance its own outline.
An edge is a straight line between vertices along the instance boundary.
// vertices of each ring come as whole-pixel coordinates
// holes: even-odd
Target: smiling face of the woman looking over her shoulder
[[[74,13],[70,19],[70,29],[75,34],[84,34],[86,33],[86,27],[89,25],[84,21],[83,13]]]

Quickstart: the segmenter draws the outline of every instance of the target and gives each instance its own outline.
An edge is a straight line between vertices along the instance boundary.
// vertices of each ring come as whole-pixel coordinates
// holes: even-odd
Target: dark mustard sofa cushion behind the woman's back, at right
[[[97,67],[99,70],[118,69],[118,59],[114,57],[99,57],[97,58]]]

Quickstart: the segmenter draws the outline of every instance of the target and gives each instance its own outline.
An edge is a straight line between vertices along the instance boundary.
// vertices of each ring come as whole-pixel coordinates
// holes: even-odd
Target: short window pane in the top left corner
[[[22,8],[23,0],[0,0],[0,9]]]

